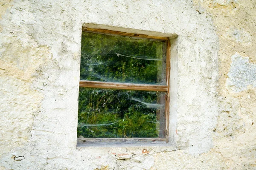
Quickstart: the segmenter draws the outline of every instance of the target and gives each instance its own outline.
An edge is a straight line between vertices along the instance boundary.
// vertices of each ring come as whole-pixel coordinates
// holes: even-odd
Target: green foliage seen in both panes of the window
[[[165,42],[82,34],[81,80],[165,84]],[[78,137],[158,137],[165,93],[79,89]]]

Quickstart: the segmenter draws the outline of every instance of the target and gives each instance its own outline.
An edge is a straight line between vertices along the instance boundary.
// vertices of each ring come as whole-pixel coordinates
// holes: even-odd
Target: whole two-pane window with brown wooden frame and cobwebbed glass
[[[168,37],[83,28],[78,145],[166,143]]]

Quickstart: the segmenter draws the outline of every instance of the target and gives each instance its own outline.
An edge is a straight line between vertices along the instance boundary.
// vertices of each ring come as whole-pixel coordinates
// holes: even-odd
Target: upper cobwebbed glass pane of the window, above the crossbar
[[[166,85],[166,41],[83,32],[80,79]]]

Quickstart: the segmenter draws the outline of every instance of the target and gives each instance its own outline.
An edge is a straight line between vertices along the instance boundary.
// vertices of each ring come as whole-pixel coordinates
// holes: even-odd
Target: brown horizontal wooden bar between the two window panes
[[[97,82],[97,81],[88,81],[88,80],[80,80],[79,87],[111,88],[111,89],[141,90],[141,91],[168,91],[168,86],[166,86],[166,85]]]

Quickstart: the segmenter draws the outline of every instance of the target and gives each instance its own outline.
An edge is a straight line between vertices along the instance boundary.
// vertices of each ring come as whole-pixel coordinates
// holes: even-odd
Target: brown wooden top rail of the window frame
[[[125,35],[125,36],[131,36],[131,37],[151,38],[151,39],[157,39],[157,40],[169,40],[168,37],[156,37],[156,36],[150,36],[150,35],[145,35],[145,34],[134,34],[134,33],[112,31],[112,30],[98,29],[98,28],[83,27],[82,31],[83,32],[101,32],[101,33]]]

